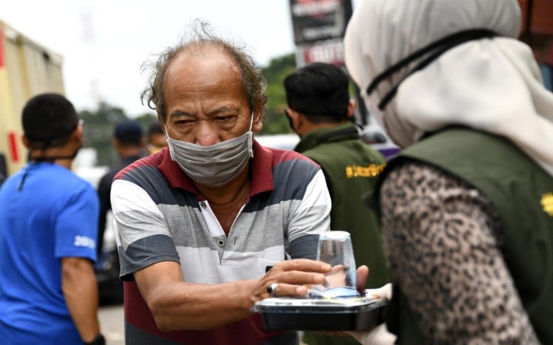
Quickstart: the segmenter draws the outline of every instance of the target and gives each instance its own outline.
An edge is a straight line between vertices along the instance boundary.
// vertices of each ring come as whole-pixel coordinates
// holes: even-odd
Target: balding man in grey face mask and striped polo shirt
[[[254,302],[305,295],[330,266],[319,166],[260,146],[265,81],[252,57],[196,21],[153,64],[142,99],[169,150],[135,161],[111,191],[120,234],[128,344],[297,344],[270,332]]]

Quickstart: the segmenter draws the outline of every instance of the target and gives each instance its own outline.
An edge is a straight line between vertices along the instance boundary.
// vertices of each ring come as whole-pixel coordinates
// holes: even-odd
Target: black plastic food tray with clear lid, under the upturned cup
[[[256,302],[265,328],[277,330],[361,331],[377,325],[388,299],[379,297],[287,298]]]

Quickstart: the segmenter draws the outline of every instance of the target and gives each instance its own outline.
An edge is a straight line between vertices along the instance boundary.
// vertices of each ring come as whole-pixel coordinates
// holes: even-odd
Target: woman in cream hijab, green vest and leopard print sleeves
[[[403,148],[373,201],[400,344],[553,344],[553,94],[516,0],[362,0],[346,67]]]

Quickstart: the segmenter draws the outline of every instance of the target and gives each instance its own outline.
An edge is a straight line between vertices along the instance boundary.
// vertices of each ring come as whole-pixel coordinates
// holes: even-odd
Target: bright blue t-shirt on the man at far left
[[[0,343],[82,344],[62,293],[63,257],[96,259],[93,186],[51,163],[0,188]]]

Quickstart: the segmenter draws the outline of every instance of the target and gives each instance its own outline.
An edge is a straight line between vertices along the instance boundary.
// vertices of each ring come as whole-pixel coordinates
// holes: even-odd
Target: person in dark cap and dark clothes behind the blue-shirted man
[[[144,132],[138,121],[124,120],[115,125],[113,130],[113,148],[115,148],[120,161],[100,179],[97,188],[98,197],[100,197],[97,253],[100,259],[102,258],[104,232],[106,226],[109,226],[106,221],[110,219],[108,214],[111,211],[111,182],[120,170],[124,169],[133,161],[144,157],[144,146]]]

